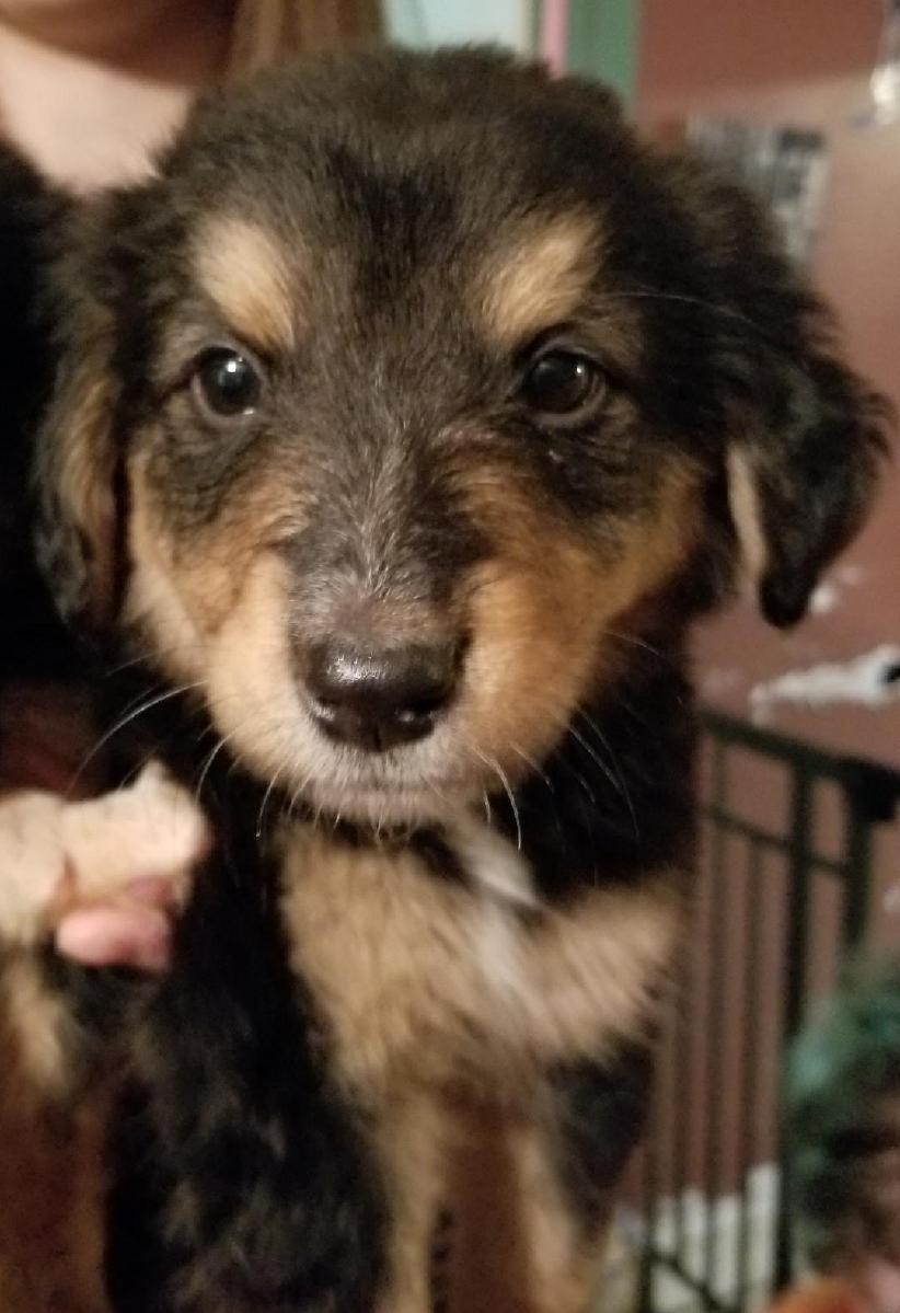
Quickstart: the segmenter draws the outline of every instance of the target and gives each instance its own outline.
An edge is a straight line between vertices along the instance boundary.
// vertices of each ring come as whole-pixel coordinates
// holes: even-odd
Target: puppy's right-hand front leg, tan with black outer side
[[[635,1049],[548,1073],[529,1116],[481,1112],[454,1175],[451,1313],[588,1313],[648,1079]]]

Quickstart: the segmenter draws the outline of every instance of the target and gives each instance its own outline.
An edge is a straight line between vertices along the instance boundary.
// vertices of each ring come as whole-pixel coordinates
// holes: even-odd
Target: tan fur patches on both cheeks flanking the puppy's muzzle
[[[300,521],[302,503],[294,494],[291,504],[283,487],[248,490],[186,555],[167,538],[140,462],[130,478],[130,618],[171,675],[203,684],[219,733],[245,764],[316,801],[329,748],[298,696],[290,580],[270,550]],[[462,494],[493,545],[491,562],[466,588],[472,645],[453,742],[442,747],[445,759],[455,759],[455,775],[471,781],[472,797],[520,779],[558,741],[572,708],[615,678],[624,650],[605,629],[680,567],[699,516],[694,471],[676,463],[661,477],[652,509],[614,527],[601,544],[567,537],[489,471]],[[352,810],[349,798],[346,805]],[[437,806],[434,793],[416,798],[420,809],[428,805]]]

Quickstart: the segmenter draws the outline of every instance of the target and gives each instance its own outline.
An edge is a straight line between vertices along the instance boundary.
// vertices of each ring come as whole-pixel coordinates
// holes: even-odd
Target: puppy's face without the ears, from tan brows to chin
[[[126,614],[257,771],[420,815],[564,733],[690,554],[698,475],[630,393],[600,215],[359,156],[300,154],[281,204],[266,163],[177,240]]]

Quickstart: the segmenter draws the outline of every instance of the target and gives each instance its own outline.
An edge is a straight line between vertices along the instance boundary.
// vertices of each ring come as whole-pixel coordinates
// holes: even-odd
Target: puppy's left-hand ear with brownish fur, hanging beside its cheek
[[[38,561],[63,617],[87,632],[114,603],[118,521],[115,323],[93,272],[97,227],[87,210],[73,217],[49,274],[58,364],[35,465]]]

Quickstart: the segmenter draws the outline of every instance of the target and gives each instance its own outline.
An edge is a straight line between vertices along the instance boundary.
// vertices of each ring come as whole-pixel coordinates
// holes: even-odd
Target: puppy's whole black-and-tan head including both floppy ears
[[[594,87],[308,63],[207,101],[79,222],[45,429],[60,603],[316,805],[508,784],[660,599],[708,604],[743,557],[796,620],[867,502],[872,408],[817,306],[743,198]]]

